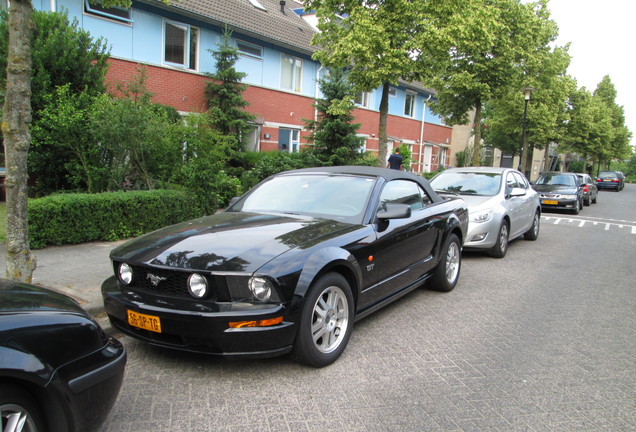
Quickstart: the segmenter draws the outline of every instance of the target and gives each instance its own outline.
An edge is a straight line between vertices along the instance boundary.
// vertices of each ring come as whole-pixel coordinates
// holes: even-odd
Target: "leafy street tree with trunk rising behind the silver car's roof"
[[[447,124],[465,124],[474,109],[473,165],[480,164],[483,104],[523,82],[526,64],[556,38],[556,24],[549,20],[547,1],[522,4],[520,0],[482,1],[472,31],[459,27],[453,34],[450,61],[437,65],[427,84],[436,90],[431,109],[445,116]],[[476,31],[477,30],[477,31]],[[526,83],[524,85],[527,86]]]

